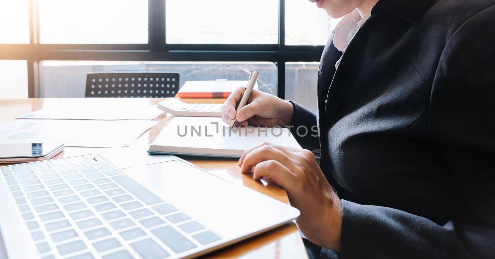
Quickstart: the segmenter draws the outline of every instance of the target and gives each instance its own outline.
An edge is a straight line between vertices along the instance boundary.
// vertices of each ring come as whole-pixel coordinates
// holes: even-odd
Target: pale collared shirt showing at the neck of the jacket
[[[342,17],[342,20],[335,26],[335,29],[332,31],[332,35],[334,36],[333,43],[335,47],[342,52],[345,52],[347,46],[349,45],[352,38],[356,35],[357,31],[363,25],[366,20],[368,20],[371,16],[371,9],[361,17],[359,11],[354,9],[352,12],[346,14]],[[341,58],[335,63],[335,69],[339,67],[339,64],[342,60]]]

